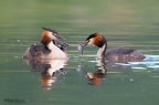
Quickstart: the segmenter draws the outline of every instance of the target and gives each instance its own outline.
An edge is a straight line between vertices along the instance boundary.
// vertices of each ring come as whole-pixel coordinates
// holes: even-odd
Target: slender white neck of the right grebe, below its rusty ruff
[[[98,49],[98,51],[97,51],[97,57],[96,57],[97,60],[105,59],[106,48],[107,48],[107,45],[105,43],[105,44],[103,44],[102,48]]]

